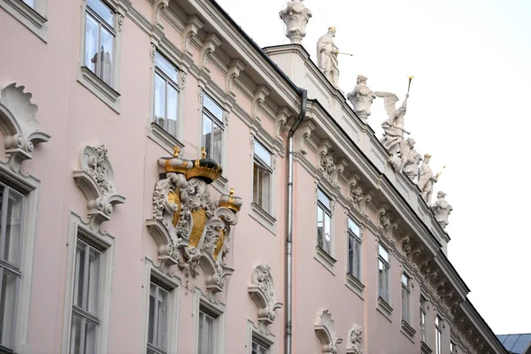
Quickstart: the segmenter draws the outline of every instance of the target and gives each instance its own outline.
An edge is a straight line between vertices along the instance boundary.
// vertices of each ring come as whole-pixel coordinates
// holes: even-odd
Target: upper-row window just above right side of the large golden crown
[[[223,149],[223,109],[206,94],[203,95],[203,134],[201,146],[206,156],[221,164]]]

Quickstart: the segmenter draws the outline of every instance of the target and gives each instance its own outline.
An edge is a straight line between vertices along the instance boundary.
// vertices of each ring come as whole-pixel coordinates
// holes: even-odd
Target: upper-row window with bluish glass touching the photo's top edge
[[[112,87],[114,12],[100,0],[87,0],[84,65]]]

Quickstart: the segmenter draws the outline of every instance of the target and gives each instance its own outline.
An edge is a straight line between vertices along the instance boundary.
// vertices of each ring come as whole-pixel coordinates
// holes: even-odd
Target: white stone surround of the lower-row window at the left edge
[[[0,112],[1,114],[1,112]],[[14,352],[23,352],[27,343],[31,288],[34,270],[35,234],[41,181],[32,175],[15,173],[10,166],[0,162],[0,181],[24,196],[24,219],[20,242],[18,298],[15,310]],[[5,183],[9,182],[9,183]]]

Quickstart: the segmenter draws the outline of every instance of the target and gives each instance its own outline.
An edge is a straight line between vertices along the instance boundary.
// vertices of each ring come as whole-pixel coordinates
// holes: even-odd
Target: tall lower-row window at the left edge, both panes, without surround
[[[0,345],[14,349],[24,196],[0,183]]]

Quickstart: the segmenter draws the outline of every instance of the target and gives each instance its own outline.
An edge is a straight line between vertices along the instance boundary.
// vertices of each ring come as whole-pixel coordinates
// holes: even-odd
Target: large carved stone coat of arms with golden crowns
[[[146,225],[158,242],[159,260],[165,267],[177,265],[189,278],[203,268],[207,289],[221,291],[225,277],[234,272],[227,267],[228,244],[232,227],[238,222],[242,198],[234,195],[211,199],[209,185],[222,173],[221,166],[207,158],[187,160],[173,150],[173,157],[160,158],[158,165],[165,172],[155,185],[153,219]]]

